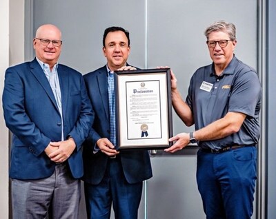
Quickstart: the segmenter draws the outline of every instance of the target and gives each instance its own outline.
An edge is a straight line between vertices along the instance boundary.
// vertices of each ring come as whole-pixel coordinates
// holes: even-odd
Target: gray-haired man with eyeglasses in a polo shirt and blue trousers
[[[197,143],[197,185],[206,218],[246,219],[253,214],[262,88],[252,67],[234,54],[233,23],[217,21],[205,35],[213,63],[190,80],[186,102],[171,72],[172,105],[195,132],[181,133],[166,152]]]

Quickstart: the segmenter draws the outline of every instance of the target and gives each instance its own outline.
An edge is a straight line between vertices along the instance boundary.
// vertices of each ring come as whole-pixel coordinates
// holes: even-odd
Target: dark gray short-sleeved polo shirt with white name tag
[[[220,76],[214,64],[200,67],[190,79],[186,103],[190,106],[195,129],[223,118],[227,112],[241,112],[246,119],[235,134],[219,140],[199,141],[199,147],[220,149],[230,145],[256,145],[259,139],[259,111],[262,87],[255,70],[235,56]]]

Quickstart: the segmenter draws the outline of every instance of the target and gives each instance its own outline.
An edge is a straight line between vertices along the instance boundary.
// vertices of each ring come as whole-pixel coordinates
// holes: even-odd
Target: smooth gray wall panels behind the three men
[[[141,68],[172,67],[185,97],[190,76],[197,67],[210,63],[204,30],[220,19],[237,27],[237,58],[257,68],[257,0],[27,2],[30,41],[39,25],[57,25],[63,32],[60,63],[83,74],[106,63],[101,52],[103,30],[119,25],[130,31],[129,63]],[[28,48],[26,42],[26,59],[32,59]],[[174,114],[173,129],[177,134],[193,127],[185,127]],[[204,218],[195,181],[196,149],[191,146],[172,156],[160,151],[152,155],[154,176],[145,183],[139,218]],[[82,202],[81,218],[84,210]]]

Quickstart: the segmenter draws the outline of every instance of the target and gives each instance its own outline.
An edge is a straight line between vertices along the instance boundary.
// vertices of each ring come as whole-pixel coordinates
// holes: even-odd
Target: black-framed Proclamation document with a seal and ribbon
[[[170,147],[170,69],[115,72],[115,109],[118,149]]]

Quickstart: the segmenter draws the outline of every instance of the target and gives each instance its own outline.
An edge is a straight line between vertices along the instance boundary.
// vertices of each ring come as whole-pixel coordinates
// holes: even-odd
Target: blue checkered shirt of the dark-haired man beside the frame
[[[108,103],[110,121],[110,141],[116,146],[116,127],[115,127],[115,92],[114,92],[114,73],[108,71]]]

